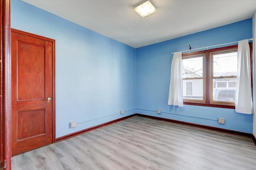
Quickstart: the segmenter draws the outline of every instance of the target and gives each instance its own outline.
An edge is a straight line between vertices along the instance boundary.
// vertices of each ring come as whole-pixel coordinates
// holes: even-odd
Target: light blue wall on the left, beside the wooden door
[[[20,0],[11,27],[56,40],[56,137],[136,113],[136,49]]]

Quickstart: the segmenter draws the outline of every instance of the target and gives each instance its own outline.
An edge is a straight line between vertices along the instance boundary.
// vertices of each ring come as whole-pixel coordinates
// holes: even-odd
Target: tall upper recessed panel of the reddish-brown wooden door
[[[43,99],[45,97],[44,46],[18,41],[18,53],[17,99],[19,101]]]

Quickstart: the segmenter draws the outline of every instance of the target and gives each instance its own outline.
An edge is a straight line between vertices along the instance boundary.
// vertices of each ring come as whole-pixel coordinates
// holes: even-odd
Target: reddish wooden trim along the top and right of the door
[[[55,40],[11,28],[11,32],[52,42],[52,143],[56,142],[56,99],[55,99]]]

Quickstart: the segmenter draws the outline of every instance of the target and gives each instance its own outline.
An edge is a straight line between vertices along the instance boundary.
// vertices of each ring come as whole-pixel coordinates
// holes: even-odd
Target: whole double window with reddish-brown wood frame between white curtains
[[[237,47],[182,54],[184,104],[234,108]]]

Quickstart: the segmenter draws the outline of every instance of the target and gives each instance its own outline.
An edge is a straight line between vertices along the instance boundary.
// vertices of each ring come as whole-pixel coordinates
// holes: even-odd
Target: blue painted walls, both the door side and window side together
[[[252,19],[134,49],[12,0],[11,27],[56,40],[56,137],[134,113],[252,133],[252,115],[234,109],[167,105],[172,52],[252,38]]]

